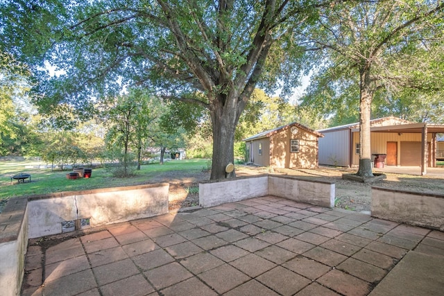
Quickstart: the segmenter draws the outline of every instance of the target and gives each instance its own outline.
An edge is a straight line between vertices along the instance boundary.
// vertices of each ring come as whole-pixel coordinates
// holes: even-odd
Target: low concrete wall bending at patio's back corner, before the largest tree
[[[275,195],[321,207],[334,207],[334,183],[282,175],[237,177],[199,183],[201,207]]]

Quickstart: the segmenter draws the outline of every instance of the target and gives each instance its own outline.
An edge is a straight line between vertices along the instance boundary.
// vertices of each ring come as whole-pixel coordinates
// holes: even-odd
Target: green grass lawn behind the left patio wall
[[[92,177],[77,180],[68,180],[66,174],[69,171],[51,171],[51,169],[37,168],[35,162],[0,162],[0,200],[9,198],[53,193],[60,191],[78,191],[85,189],[128,186],[150,183],[150,180],[159,173],[167,171],[200,172],[207,168],[207,159],[172,160],[165,164],[147,164],[135,171],[134,177],[113,177],[105,168],[92,170]],[[30,173],[31,183],[17,183],[10,180],[10,175],[17,173]]]

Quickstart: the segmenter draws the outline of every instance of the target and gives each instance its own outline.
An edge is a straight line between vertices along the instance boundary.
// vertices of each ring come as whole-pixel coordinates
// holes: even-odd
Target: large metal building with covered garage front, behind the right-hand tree
[[[393,116],[370,121],[372,154],[386,154],[387,166],[436,166],[436,134],[444,125],[413,123]],[[359,166],[359,123],[318,130],[319,164]],[[424,165],[423,165],[424,164]]]

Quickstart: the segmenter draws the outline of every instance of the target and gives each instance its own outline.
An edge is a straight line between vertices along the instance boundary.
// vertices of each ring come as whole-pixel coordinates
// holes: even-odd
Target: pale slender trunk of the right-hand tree
[[[357,175],[368,178],[374,177],[371,166],[371,145],[370,145],[370,119],[371,103],[373,92],[370,89],[370,69],[369,67],[361,71],[360,101],[359,101],[359,169]]]

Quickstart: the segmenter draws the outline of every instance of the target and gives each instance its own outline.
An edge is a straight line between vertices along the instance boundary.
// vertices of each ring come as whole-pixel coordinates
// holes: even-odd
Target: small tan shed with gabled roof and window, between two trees
[[[315,168],[320,137],[323,134],[299,123],[266,130],[244,139],[247,161],[274,168]]]

